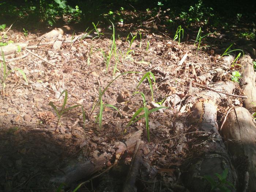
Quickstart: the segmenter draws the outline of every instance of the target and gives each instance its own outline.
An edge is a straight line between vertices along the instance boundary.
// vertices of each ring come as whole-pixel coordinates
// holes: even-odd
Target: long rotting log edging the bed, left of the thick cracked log
[[[233,83],[221,83],[227,93],[232,93]],[[219,89],[220,83],[215,84],[214,89]],[[222,87],[223,89],[223,87]],[[208,92],[208,93],[207,93]],[[215,177],[215,173],[221,174],[225,169],[228,169],[226,180],[236,185],[237,174],[234,169],[231,159],[227,154],[225,145],[221,135],[218,133],[217,124],[217,104],[224,94],[219,94],[214,91],[202,91],[197,96],[205,96],[203,101],[196,102],[191,108],[189,120],[199,130],[211,133],[204,142],[193,146],[193,150],[197,153],[193,154],[192,160],[186,166],[188,169],[184,172],[184,183],[191,191],[210,191],[211,186],[204,176]],[[195,98],[192,98],[195,100]],[[186,163],[185,163],[186,164]],[[227,186],[226,186],[227,187]],[[235,189],[229,188],[231,191]]]

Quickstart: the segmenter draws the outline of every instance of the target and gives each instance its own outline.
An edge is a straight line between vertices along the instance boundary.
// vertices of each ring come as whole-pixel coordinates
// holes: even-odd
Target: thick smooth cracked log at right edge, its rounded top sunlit
[[[227,148],[239,166],[240,191],[246,189],[249,172],[248,191],[256,191],[256,123],[250,112],[243,107],[231,109],[221,130]]]

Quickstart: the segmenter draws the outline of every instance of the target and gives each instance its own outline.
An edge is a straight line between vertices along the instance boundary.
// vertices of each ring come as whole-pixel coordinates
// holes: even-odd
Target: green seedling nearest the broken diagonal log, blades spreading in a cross
[[[154,108],[154,109],[151,109],[151,110],[148,110],[147,108],[147,105],[146,105],[146,97],[144,95],[144,93],[142,92],[139,92],[139,91],[136,91],[135,93],[133,93],[133,95],[135,94],[140,94],[142,96],[142,99],[143,99],[143,107],[142,108],[139,108],[132,116],[131,120],[128,122],[128,124],[126,125],[126,127],[129,127],[130,125],[132,125],[133,123],[139,121],[141,118],[145,117],[145,121],[146,121],[146,130],[147,130],[147,140],[148,142],[150,142],[150,136],[149,136],[149,114],[150,113],[153,113],[155,111],[158,111],[160,109],[163,109],[163,108],[167,108],[167,107],[164,107],[164,106],[161,106],[161,107],[157,107],[157,108]],[[144,114],[142,114],[141,116],[139,116],[138,118],[136,118],[142,111],[144,111]]]

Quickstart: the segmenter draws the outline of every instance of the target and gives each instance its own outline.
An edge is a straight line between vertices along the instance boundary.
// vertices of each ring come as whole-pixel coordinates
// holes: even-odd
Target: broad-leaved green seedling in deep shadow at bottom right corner
[[[222,174],[215,173],[215,175],[218,178],[218,181],[214,180],[214,178],[212,178],[211,176],[204,176],[204,178],[211,185],[211,191],[215,191],[218,189],[218,191],[221,192],[231,192],[231,190],[228,187],[235,188],[231,182],[226,181],[227,173],[228,169],[223,170]]]

